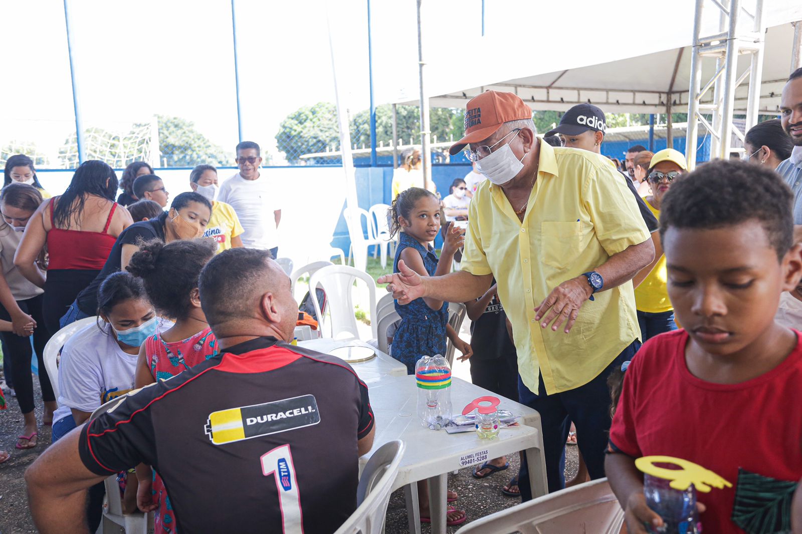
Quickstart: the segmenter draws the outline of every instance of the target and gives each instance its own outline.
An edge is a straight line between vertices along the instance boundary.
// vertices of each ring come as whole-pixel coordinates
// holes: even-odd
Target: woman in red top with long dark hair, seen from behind
[[[133,222],[128,211],[117,209],[116,191],[114,169],[102,161],[85,161],[67,191],[42,204],[22,237],[14,265],[45,289],[44,326],[51,333],[59,330],[69,305],[103,269],[119,233]],[[34,265],[46,243],[47,281]]]

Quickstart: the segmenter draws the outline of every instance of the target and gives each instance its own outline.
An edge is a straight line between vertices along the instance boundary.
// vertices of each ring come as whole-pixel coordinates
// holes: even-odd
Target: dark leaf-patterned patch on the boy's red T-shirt
[[[749,534],[791,534],[796,482],[738,470],[732,522]]]

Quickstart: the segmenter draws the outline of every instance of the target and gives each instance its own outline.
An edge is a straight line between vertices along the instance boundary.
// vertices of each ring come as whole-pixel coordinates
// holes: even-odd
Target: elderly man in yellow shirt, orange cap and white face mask
[[[468,158],[488,177],[474,196],[462,269],[420,277],[403,262],[379,278],[400,304],[418,297],[465,302],[496,277],[512,322],[520,402],[540,412],[549,492],[565,486],[569,422],[593,479],[604,476],[610,429],[607,376],[638,350],[631,279],[654,258],[632,193],[604,156],[553,148],[512,93],[468,102]],[[532,498],[526,467],[519,480]]]

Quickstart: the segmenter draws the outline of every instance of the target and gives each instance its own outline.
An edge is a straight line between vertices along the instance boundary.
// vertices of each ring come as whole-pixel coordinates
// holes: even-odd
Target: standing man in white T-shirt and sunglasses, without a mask
[[[261,176],[259,145],[242,141],[237,145],[240,172],[225,180],[217,200],[231,204],[245,232],[242,245],[278,253],[278,224],[282,220],[282,195],[278,184]]]

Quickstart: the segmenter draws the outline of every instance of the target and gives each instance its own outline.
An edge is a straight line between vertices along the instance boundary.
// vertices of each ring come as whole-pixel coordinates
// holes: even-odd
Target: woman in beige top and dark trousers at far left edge
[[[34,413],[34,382],[30,375],[30,329],[34,326],[34,347],[38,361],[39,385],[45,404],[44,423],[53,422],[55,395],[50,378],[45,370],[43,356],[45,345],[51,334],[45,327],[42,315],[43,289],[32,284],[14,266],[14,253],[17,252],[22,233],[28,220],[42,204],[42,193],[32,185],[14,182],[0,192],[0,319],[13,324],[13,332],[2,332],[5,357],[9,359],[11,382],[17,393],[19,409],[22,411],[24,427],[17,439],[18,449],[36,447],[37,426]],[[38,266],[34,264],[34,269]],[[43,273],[39,270],[40,273]]]

